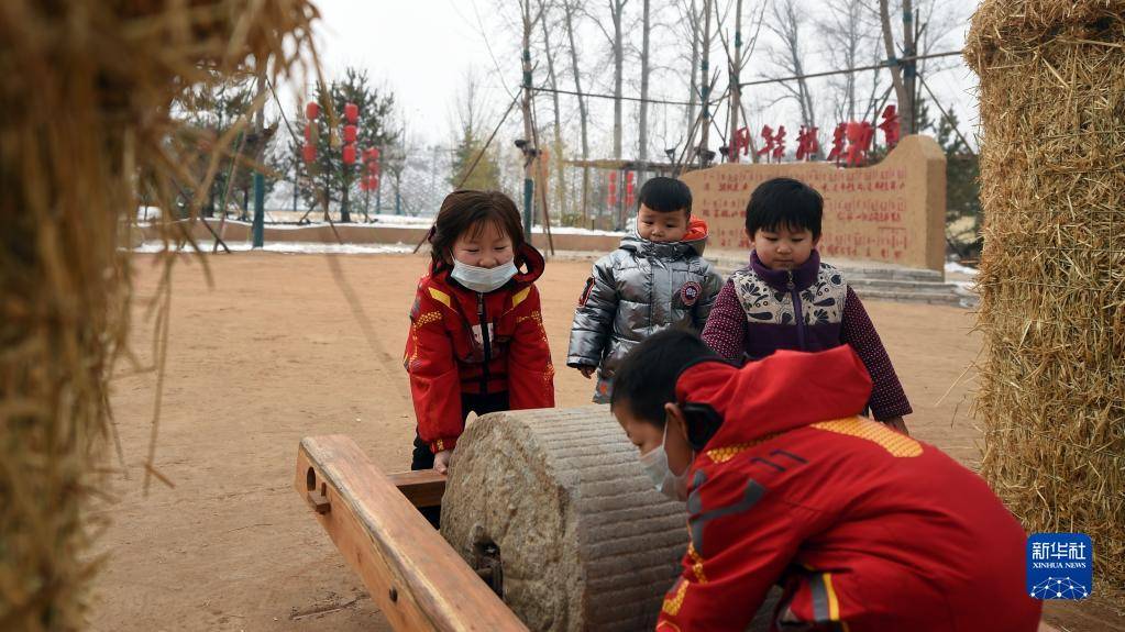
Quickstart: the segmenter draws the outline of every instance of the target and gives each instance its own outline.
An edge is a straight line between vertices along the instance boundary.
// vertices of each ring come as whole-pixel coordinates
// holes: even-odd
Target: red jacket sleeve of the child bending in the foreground
[[[687,499],[692,543],[657,632],[746,630],[803,538],[800,512],[746,475],[716,468]],[[693,475],[696,477],[698,475]]]

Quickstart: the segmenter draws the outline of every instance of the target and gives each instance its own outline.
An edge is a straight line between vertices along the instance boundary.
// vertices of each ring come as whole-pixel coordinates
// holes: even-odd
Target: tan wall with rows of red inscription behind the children
[[[771,178],[795,178],[825,197],[820,253],[827,260],[879,261],[943,270],[945,154],[929,136],[907,136],[882,162],[722,164],[682,178],[692,214],[706,219],[710,250],[745,251],[746,204]]]

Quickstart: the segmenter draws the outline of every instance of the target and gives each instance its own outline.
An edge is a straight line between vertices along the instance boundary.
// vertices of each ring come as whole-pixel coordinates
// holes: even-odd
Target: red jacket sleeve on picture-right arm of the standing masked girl
[[[526,291],[524,296],[520,296]],[[508,345],[507,386],[508,407],[555,407],[555,365],[543,328],[543,310],[539,303],[539,288],[528,286],[513,296],[515,334]]]

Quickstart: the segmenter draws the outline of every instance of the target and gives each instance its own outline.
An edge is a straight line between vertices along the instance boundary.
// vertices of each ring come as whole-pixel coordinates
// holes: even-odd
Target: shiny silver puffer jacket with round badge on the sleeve
[[[612,379],[637,343],[668,327],[703,329],[722,277],[692,241],[654,243],[636,233],[594,263],[570,326],[568,367],[601,367]]]

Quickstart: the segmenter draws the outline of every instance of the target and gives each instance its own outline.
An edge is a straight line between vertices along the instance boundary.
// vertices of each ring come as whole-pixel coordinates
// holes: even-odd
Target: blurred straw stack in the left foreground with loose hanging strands
[[[83,622],[127,349],[118,245],[138,190],[172,209],[173,182],[195,184],[173,100],[240,67],[286,74],[315,18],[305,0],[0,2],[0,630]]]

